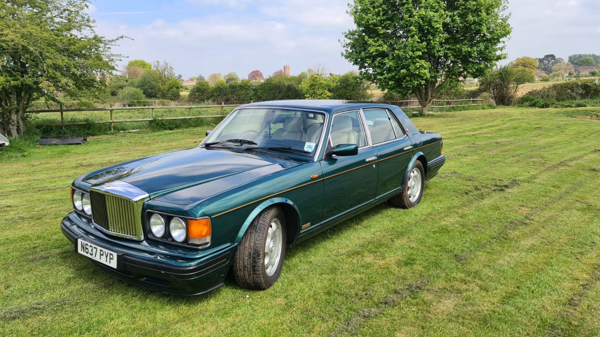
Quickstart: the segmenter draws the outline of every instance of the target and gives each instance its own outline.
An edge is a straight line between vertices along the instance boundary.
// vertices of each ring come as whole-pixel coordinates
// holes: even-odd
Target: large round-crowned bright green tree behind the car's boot
[[[343,55],[379,88],[415,94],[422,112],[446,83],[480,77],[511,33],[507,0],[355,0]]]

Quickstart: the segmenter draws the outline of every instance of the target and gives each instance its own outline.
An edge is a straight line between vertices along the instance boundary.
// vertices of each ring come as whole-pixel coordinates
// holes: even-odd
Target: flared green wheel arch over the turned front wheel
[[[292,200],[287,198],[271,198],[269,200],[263,201],[258,206],[254,207],[250,215],[245,219],[244,224],[242,224],[242,228],[240,228],[238,232],[238,236],[235,239],[236,243],[241,242],[242,237],[252,224],[252,221],[256,216],[260,214],[267,207],[278,206],[283,210],[284,215],[286,216],[286,235],[287,235],[287,244],[293,245],[296,243],[296,239],[298,239],[298,233],[300,232],[300,212],[298,207]]]

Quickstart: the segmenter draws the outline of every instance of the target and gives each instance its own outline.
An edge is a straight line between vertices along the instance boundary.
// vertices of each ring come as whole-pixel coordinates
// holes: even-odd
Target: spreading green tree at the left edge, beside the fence
[[[121,55],[94,32],[86,0],[0,1],[0,132],[23,136],[32,100],[92,95]]]

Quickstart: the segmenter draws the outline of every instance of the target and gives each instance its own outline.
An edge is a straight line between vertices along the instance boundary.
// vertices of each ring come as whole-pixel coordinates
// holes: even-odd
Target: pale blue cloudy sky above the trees
[[[352,28],[348,0],[101,0],[89,13],[98,34],[126,35],[115,51],[131,59],[171,62],[190,76],[235,71],[267,76],[287,61],[298,74],[313,64],[332,73],[356,68],[338,40]],[[511,0],[509,59],[554,53],[600,53],[596,0]]]

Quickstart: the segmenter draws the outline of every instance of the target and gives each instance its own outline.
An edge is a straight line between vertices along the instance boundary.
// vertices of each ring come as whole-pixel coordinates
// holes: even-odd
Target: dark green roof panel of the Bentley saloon
[[[325,113],[336,113],[352,109],[366,109],[370,107],[386,107],[388,109],[398,109],[397,106],[389,104],[380,104],[374,102],[343,101],[343,100],[281,100],[266,101],[251,104],[244,104],[242,108],[248,107],[273,107],[286,109],[317,110]]]

